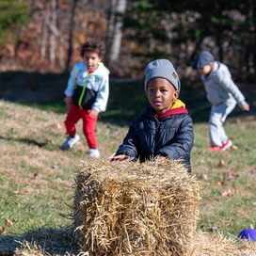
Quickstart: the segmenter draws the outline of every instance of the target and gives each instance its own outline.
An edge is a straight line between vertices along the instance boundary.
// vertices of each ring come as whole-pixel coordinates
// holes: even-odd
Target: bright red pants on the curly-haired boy
[[[95,125],[98,117],[91,118],[88,109],[81,109],[79,106],[72,104],[68,116],[65,120],[67,134],[74,136],[76,133],[75,124],[78,120],[83,120],[83,132],[88,141],[88,147],[94,149],[97,147],[97,140],[95,136]]]

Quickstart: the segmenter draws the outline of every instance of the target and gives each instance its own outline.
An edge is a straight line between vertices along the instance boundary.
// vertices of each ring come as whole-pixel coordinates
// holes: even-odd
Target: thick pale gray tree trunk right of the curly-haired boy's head
[[[120,44],[121,44],[121,37],[122,37],[122,31],[121,31],[121,26],[122,26],[122,14],[126,10],[126,0],[118,0],[118,5],[116,8],[116,19],[115,19],[115,25],[113,29],[113,35],[111,37],[112,43],[110,47],[110,53],[108,57],[108,64],[109,68],[114,67],[115,64],[118,61],[119,55],[120,55]],[[112,2],[113,3],[113,2]]]

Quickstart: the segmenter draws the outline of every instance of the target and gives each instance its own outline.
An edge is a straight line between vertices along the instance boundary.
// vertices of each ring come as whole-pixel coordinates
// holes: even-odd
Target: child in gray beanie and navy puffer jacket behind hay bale
[[[152,61],[146,68],[144,87],[151,106],[131,123],[118,152],[109,159],[181,158],[191,172],[193,122],[178,100],[181,82],[172,64],[167,59]]]

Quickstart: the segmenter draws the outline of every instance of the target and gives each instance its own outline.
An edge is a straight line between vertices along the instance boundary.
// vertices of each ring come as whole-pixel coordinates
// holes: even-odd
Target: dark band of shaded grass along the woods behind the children
[[[69,73],[2,72],[0,99],[64,114],[68,112],[63,102],[68,79]],[[206,100],[203,85],[200,81],[187,81],[182,81],[180,99],[186,104],[194,122],[205,122],[209,118],[211,104]],[[128,125],[149,106],[142,79],[111,77],[109,90],[107,110],[100,114],[100,120]],[[248,102],[255,103],[255,94],[249,90],[246,92]],[[256,104],[254,106],[255,112]],[[237,107],[232,116],[241,113]]]

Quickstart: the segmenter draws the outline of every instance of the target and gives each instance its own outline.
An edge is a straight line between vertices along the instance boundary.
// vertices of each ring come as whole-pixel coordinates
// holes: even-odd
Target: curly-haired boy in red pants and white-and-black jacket
[[[69,150],[80,139],[75,124],[83,120],[83,132],[88,141],[89,156],[98,158],[95,125],[100,112],[104,112],[109,94],[109,71],[101,62],[104,56],[104,43],[101,40],[88,40],[82,45],[84,61],[76,63],[72,69],[64,102],[71,105],[65,120],[67,140],[62,150]]]

